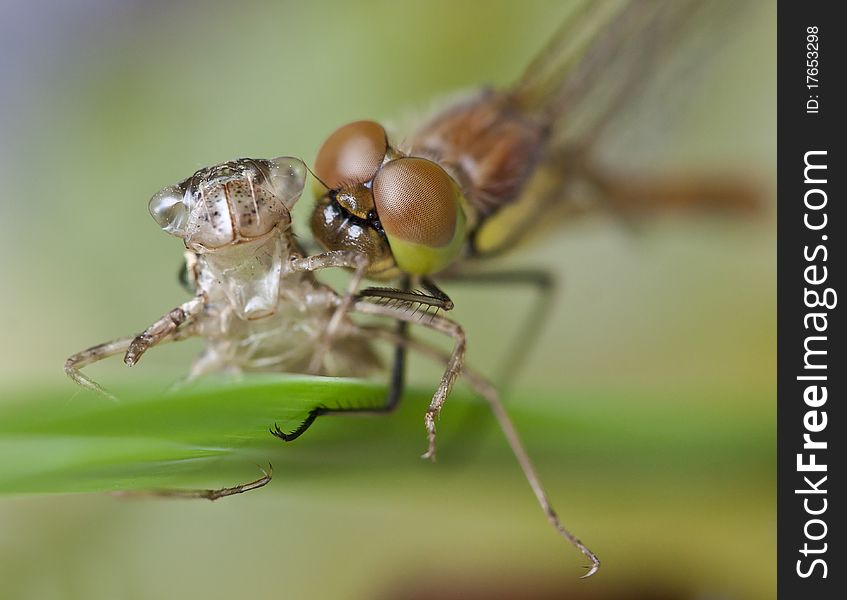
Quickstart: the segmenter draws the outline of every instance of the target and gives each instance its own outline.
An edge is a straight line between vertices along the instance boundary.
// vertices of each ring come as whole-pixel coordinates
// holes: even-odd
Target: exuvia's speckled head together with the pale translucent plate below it
[[[198,292],[220,292],[239,318],[260,319],[276,311],[287,256],[273,232],[290,227],[306,173],[297,158],[240,158],[164,188],[150,214],[203,257]]]

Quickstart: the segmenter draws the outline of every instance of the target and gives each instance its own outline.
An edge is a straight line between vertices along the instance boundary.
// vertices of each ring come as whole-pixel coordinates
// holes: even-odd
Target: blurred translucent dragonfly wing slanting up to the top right
[[[658,77],[696,70],[744,2],[581,2],[512,88],[556,138],[592,144]]]

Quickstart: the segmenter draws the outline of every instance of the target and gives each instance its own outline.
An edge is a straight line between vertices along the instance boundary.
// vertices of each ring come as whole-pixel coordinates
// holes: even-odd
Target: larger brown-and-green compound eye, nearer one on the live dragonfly
[[[465,236],[464,198],[444,169],[423,158],[398,158],[379,170],[374,203],[401,270],[440,271],[455,259]]]

